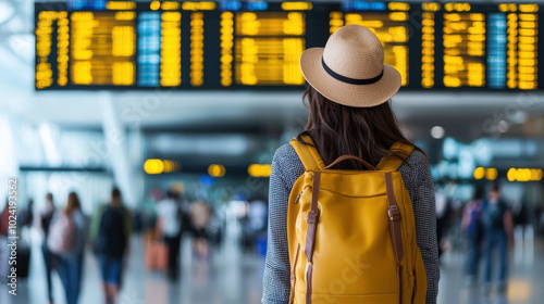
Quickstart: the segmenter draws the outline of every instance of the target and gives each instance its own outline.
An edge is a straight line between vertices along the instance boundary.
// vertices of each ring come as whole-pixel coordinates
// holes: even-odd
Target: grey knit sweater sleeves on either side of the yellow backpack
[[[287,304],[290,291],[287,244],[287,203],[290,189],[305,167],[290,144],[274,154],[269,189],[269,229],[264,265],[263,304]],[[417,244],[423,256],[428,278],[425,304],[435,304],[438,292],[440,262],[436,241],[434,186],[423,153],[412,152],[399,168],[413,205]]]

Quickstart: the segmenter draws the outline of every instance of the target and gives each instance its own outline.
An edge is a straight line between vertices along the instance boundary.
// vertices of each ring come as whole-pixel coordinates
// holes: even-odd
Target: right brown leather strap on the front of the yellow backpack
[[[397,280],[398,280],[398,304],[403,304],[403,266],[400,261],[405,254],[403,246],[403,236],[400,235],[400,211],[398,210],[397,200],[395,199],[395,191],[393,188],[393,177],[391,172],[385,173],[385,187],[387,191],[387,203],[390,216],[390,229],[391,238],[393,240],[393,249],[395,250],[395,256],[397,257]]]

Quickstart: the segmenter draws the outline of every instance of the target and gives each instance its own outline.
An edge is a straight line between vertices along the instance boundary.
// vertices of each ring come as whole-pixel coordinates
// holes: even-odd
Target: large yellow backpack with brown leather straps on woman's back
[[[397,172],[404,160],[384,157],[374,168],[344,155],[325,166],[313,145],[296,138],[290,144],[306,172],[293,186],[287,213],[289,303],[425,303],[413,210]],[[397,142],[391,151],[409,155],[413,145]],[[330,169],[345,160],[369,170]]]

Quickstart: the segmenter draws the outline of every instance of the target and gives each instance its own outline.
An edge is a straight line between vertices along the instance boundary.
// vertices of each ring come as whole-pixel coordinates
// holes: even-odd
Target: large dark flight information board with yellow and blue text
[[[35,3],[37,90],[300,89],[301,52],[373,30],[410,90],[536,90],[535,3],[106,1]]]

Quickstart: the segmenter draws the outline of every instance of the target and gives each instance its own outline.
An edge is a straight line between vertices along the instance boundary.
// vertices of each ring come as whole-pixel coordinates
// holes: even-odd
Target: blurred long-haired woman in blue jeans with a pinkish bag
[[[54,219],[52,226],[62,223],[61,218],[65,217],[70,223],[64,227],[66,229],[73,230],[72,243],[69,245],[70,250],[65,253],[57,253],[58,261],[58,271],[61,277],[62,284],[64,286],[64,292],[66,295],[67,304],[76,304],[79,297],[79,288],[82,281],[83,271],[83,257],[84,257],[84,246],[86,238],[86,218],[82,212],[82,205],[79,203],[79,198],[75,192],[70,192],[67,198],[66,207],[61,211],[61,214]],[[59,221],[59,223],[58,223]],[[51,230],[57,230],[57,227],[51,227]],[[65,232],[70,236],[70,232]],[[53,236],[49,240],[49,248],[51,249],[51,242],[54,241]],[[53,250],[54,252],[54,250]]]

